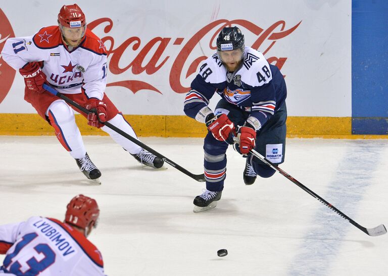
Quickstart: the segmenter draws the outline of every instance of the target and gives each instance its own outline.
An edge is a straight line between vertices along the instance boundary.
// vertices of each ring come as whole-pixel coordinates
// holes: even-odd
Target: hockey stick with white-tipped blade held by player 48
[[[292,181],[293,183],[295,183],[298,187],[300,187],[301,189],[303,189],[304,191],[306,191],[307,193],[309,193],[311,196],[315,197],[316,199],[318,199],[320,202],[322,202],[323,204],[325,204],[327,207],[329,207],[330,209],[332,209],[334,212],[336,212],[337,214],[339,214],[340,216],[342,216],[343,218],[345,218],[346,220],[348,220],[348,222],[350,222],[352,225],[354,225],[355,227],[357,227],[358,229],[360,229],[362,232],[368,234],[369,236],[380,236],[380,235],[384,235],[386,233],[386,228],[384,225],[380,224],[379,226],[376,226],[375,228],[365,228],[361,225],[359,225],[358,223],[356,223],[352,218],[350,218],[349,216],[347,216],[346,214],[344,214],[343,212],[341,212],[340,210],[338,210],[337,208],[335,208],[332,204],[330,204],[329,202],[327,202],[326,200],[324,200],[322,197],[320,197],[319,195],[317,195],[316,193],[314,193],[312,190],[310,190],[309,188],[307,188],[306,186],[304,186],[302,183],[300,183],[298,180],[296,180],[295,178],[293,178],[292,176],[290,176],[289,174],[287,174],[286,172],[284,172],[282,169],[280,169],[279,167],[277,167],[277,165],[273,164],[271,161],[267,160],[263,155],[261,155],[259,152],[257,152],[256,150],[254,149],[251,149],[250,151],[254,156],[256,156],[257,158],[259,158],[262,162],[266,163],[267,165],[269,165],[269,167],[271,167],[272,169],[274,169],[275,171],[278,171],[282,176],[284,176],[285,178],[287,178],[288,180]]]

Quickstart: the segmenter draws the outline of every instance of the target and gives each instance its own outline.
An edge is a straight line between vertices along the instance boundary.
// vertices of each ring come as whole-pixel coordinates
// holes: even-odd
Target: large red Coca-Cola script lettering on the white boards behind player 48
[[[98,35],[100,36],[100,38],[104,43],[108,42],[108,43],[105,43],[105,45],[107,44],[110,45],[109,48],[107,47],[108,57],[110,57],[109,70],[112,74],[115,74],[115,75],[123,74],[129,68],[131,68],[132,74],[134,75],[141,74],[144,71],[146,71],[146,74],[152,75],[158,70],[160,70],[166,64],[166,61],[171,58],[167,56],[163,60],[161,60],[161,56],[165,51],[165,49],[167,48],[167,46],[171,44],[181,45],[184,40],[187,41],[181,48],[177,57],[175,58],[169,75],[169,82],[172,90],[175,91],[176,93],[186,93],[189,90],[189,87],[184,87],[181,84],[182,74],[184,78],[188,78],[192,74],[195,74],[199,64],[207,58],[205,56],[201,56],[193,60],[188,60],[189,55],[193,50],[193,48],[201,41],[201,39],[203,39],[209,33],[213,34],[212,38],[208,42],[209,47],[215,50],[216,49],[215,41],[221,29],[225,26],[239,25],[258,36],[258,38],[251,45],[252,48],[259,49],[260,46],[262,46],[263,42],[267,40],[270,42],[269,46],[265,50],[261,49],[263,54],[267,54],[277,40],[282,39],[287,35],[291,34],[292,32],[294,32],[301,24],[301,22],[302,21],[300,21],[292,28],[285,30],[285,22],[277,21],[274,24],[272,24],[268,29],[264,30],[247,20],[237,19],[237,20],[228,21],[225,19],[220,19],[206,25],[197,33],[195,33],[191,38],[183,37],[183,38],[176,38],[175,40],[172,40],[171,37],[155,37],[151,39],[148,43],[146,43],[144,46],[142,46],[141,39],[137,36],[132,36],[126,39],[121,45],[119,45],[116,48],[115,48],[115,40],[112,36],[103,36],[101,34],[98,34]],[[113,28],[113,21],[110,18],[101,18],[101,19],[95,20],[89,23],[87,27],[90,30],[92,30],[97,26],[99,26],[100,24],[104,26],[106,25],[104,28],[105,33],[109,33]],[[136,51],[140,48],[140,46],[142,46],[142,48],[139,50],[137,56],[132,61],[123,62],[121,60],[123,58],[124,51],[127,50],[129,47],[131,47],[132,50]],[[154,50],[155,48],[156,50]],[[152,50],[154,50],[153,53],[151,52]],[[148,63],[144,65],[144,60],[146,56],[149,57],[150,54],[153,54],[153,56],[148,61]],[[286,57],[269,57],[269,58],[267,57],[267,60],[269,63],[274,64],[279,69],[281,69],[285,61],[287,60],[287,58]],[[127,65],[125,67],[120,67],[119,66],[120,61],[122,62],[122,64],[127,64]],[[186,63],[190,63],[190,66],[188,67],[187,72],[182,72],[183,66]],[[193,77],[194,76],[192,76],[191,78]],[[108,83],[107,86],[123,86],[130,89],[133,93],[136,93],[137,91],[142,89],[153,90],[158,93],[161,93],[152,84],[149,84],[144,81],[139,81],[139,80],[122,80],[118,82]]]

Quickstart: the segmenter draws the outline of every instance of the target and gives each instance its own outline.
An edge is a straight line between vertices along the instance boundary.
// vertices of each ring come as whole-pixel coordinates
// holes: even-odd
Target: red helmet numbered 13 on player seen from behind
[[[65,222],[86,229],[93,223],[96,227],[100,215],[97,202],[87,196],[77,195],[67,204]]]

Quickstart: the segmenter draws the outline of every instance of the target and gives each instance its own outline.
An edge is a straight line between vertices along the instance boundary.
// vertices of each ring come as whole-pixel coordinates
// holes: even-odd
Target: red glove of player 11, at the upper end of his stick
[[[26,87],[36,92],[43,92],[43,83],[46,81],[46,75],[43,73],[38,62],[30,62],[19,69],[24,78]]]

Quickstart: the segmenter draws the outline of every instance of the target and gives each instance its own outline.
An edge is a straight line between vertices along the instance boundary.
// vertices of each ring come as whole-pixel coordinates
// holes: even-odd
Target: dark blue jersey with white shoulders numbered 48
[[[204,123],[212,113],[208,104],[215,93],[249,112],[249,122],[259,130],[284,103],[287,90],[279,69],[261,52],[245,47],[243,63],[233,73],[227,72],[217,53],[202,64],[186,95],[185,114]]]

